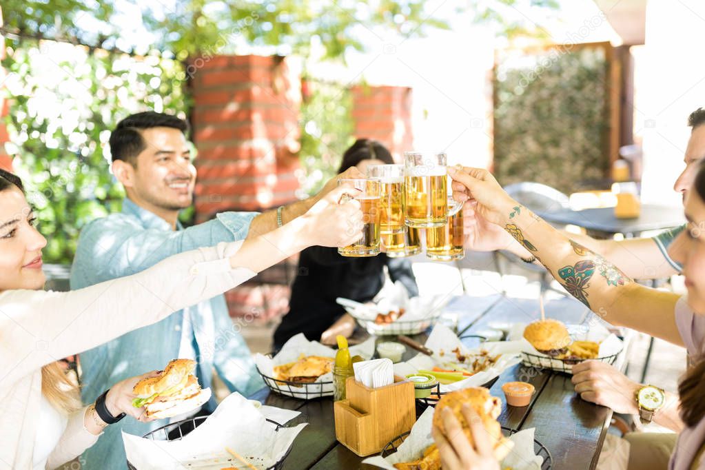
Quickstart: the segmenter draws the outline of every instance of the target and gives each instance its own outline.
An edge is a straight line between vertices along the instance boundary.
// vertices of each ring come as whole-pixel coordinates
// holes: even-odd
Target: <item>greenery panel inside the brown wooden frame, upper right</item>
[[[601,46],[501,59],[495,77],[495,175],[563,192],[609,167],[608,62]],[[559,169],[560,171],[557,171]]]

